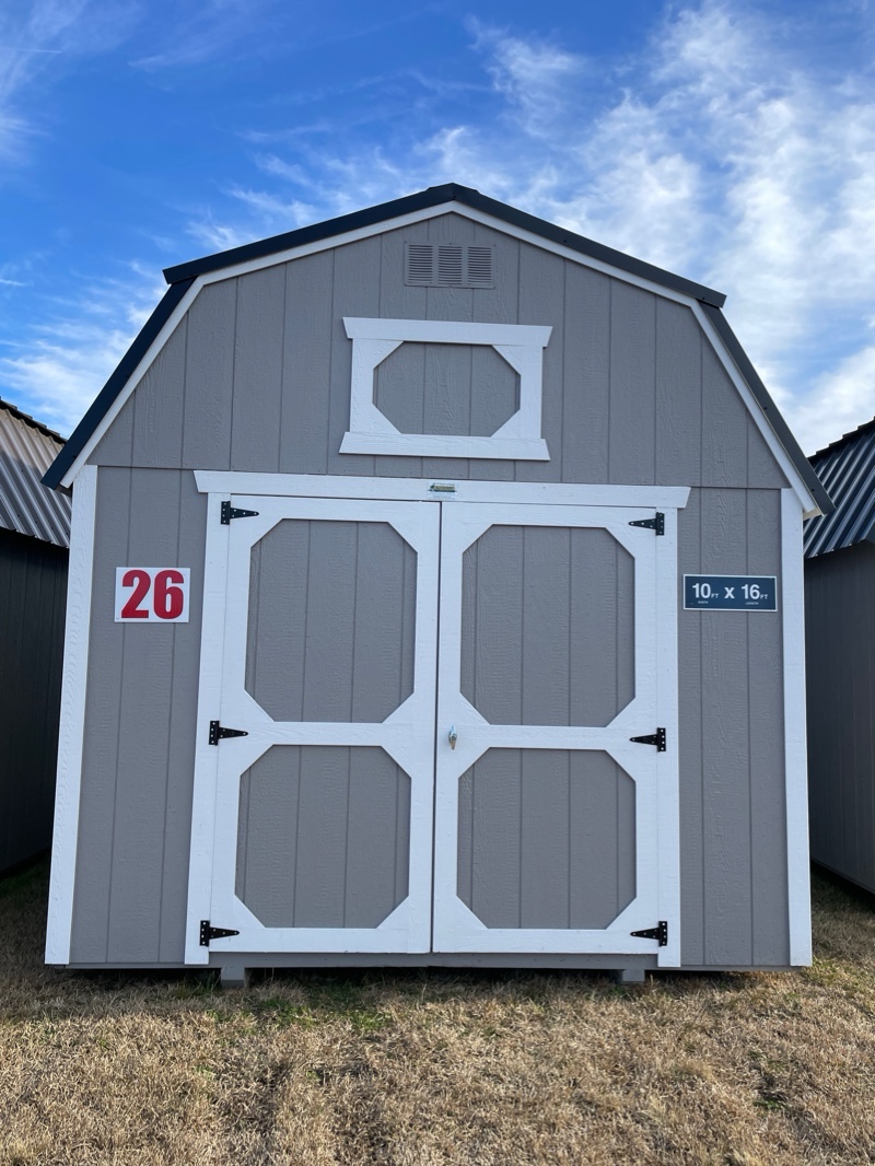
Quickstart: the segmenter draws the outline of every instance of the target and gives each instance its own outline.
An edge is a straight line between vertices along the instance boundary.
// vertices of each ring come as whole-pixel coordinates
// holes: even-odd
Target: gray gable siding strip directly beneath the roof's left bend
[[[202,288],[188,310],[182,464],[229,470],[238,280]]]

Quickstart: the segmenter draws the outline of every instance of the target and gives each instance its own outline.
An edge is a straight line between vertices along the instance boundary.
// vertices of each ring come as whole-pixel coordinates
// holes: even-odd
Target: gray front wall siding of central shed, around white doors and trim
[[[495,289],[405,287],[418,239],[494,244]],[[341,455],[343,316],[552,325],[551,459]],[[422,409],[452,407],[434,399],[467,384],[452,372],[424,381]],[[503,416],[505,378],[488,382],[484,414]],[[204,288],[91,461],[74,963],[183,960],[205,538],[191,470],[687,485],[679,576],[780,576],[788,483],[692,311],[454,215]],[[174,562],[191,567],[190,621],[116,624],[116,567]],[[780,613],[679,612],[685,963],[789,962],[782,637]]]

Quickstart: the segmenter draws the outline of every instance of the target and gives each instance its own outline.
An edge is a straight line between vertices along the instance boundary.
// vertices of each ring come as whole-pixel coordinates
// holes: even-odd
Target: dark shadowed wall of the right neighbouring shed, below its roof
[[[875,547],[805,562],[811,857],[875,892]]]

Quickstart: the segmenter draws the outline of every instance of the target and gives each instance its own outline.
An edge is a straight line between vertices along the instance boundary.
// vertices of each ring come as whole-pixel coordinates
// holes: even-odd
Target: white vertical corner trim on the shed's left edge
[[[96,504],[97,466],[86,465],[76,479],[72,496],[55,830],[49,884],[49,922],[46,935],[46,962],[58,964],[70,962],[76,845],[79,835],[82,749],[85,733]]]

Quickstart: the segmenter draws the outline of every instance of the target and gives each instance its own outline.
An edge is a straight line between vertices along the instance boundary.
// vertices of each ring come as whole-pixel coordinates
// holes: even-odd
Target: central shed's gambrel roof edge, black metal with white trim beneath
[[[608,275],[625,278],[640,287],[695,307],[706,332],[709,331],[712,340],[716,342],[715,346],[721,346],[727,353],[737,373],[736,382],[742,395],[747,392],[748,407],[764,419],[764,436],[790,472],[791,480],[794,480],[805,510],[810,513],[817,513],[818,510],[827,513],[832,510],[826,491],[723,317],[721,308],[726,301],[724,295],[455,183],[429,187],[419,194],[354,215],[343,215],[167,268],[164,278],[170,287],[164,297],[46,475],[46,484],[52,487],[69,487],[72,484],[78,466],[116,416],[126,396],[128,382],[148,365],[162,343],[168,325],[175,323],[177,315],[190,302],[190,297],[187,300],[189,293],[196,294],[204,281],[217,278],[217,273],[222,273],[222,278],[230,278],[268,262],[282,262],[324,246],[362,238],[371,232],[421,222],[448,210],[456,210],[475,222],[490,224],[536,245],[547,246],[568,258],[580,257],[580,260]]]

